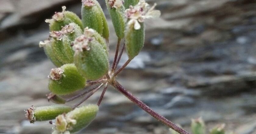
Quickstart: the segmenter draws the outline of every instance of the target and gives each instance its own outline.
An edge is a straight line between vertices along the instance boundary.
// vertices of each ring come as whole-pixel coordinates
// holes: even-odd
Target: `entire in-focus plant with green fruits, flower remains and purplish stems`
[[[30,107],[26,111],[26,118],[31,122],[55,119],[53,134],[69,134],[85,128],[96,117],[99,106],[108,85],[113,86],[128,99],[137,104],[151,116],[181,134],[188,132],[159,115],[142,101],[133,96],[116,81],[116,76],[139,54],[144,45],[144,19],[159,17],[161,12],[155,10],[156,4],[149,6],[144,0],[106,0],[116,36],[118,37],[116,53],[112,67],[109,65],[108,38],[109,30],[105,15],[97,0],[82,0],[80,19],[73,12],[55,12],[49,23],[50,35],[39,43],[45,54],[57,67],[48,76],[48,101],[65,104],[76,98],[84,98],[73,107],[44,106]],[[119,52],[121,41],[124,44]],[[128,54],[127,62],[116,70],[124,49]],[[87,87],[95,85],[91,89]],[[102,86],[104,89],[97,104],[80,106]],[[84,90],[72,98],[66,99],[61,95],[71,94],[77,90]]]

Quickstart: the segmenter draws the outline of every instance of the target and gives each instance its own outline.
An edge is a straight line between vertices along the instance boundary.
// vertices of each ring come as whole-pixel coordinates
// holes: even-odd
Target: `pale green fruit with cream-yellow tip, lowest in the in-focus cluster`
[[[80,131],[93,121],[98,110],[99,108],[97,105],[88,105],[76,108],[67,114],[57,116],[54,132],[52,134]]]

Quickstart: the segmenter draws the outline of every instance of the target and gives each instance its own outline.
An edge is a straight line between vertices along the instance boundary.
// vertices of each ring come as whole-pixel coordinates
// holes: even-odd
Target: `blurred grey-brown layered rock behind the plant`
[[[99,2],[107,14],[104,0]],[[226,123],[228,133],[256,134],[256,0],[148,2],[157,2],[162,16],[146,22],[145,47],[118,77],[120,83],[187,131],[190,119],[201,116],[208,129]],[[0,133],[52,131],[48,122],[30,124],[23,110],[52,104],[45,94],[54,66],[38,42],[48,37],[44,20],[62,5],[80,14],[80,0],[0,0]],[[110,20],[109,26],[113,57]],[[99,96],[100,91],[84,104]],[[81,133],[170,131],[109,88],[96,120]]]

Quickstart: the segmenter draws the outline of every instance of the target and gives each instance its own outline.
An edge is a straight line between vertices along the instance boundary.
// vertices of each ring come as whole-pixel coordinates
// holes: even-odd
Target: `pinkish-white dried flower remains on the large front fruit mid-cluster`
[[[75,52],[82,52],[84,50],[89,51],[90,46],[88,44],[93,40],[94,30],[86,27],[84,29],[84,34],[77,37],[74,41],[73,50]]]

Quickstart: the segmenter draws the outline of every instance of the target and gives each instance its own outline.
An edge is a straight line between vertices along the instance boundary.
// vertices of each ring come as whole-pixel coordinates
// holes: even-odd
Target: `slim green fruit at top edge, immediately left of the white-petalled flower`
[[[111,16],[113,26],[116,31],[116,36],[123,39],[126,18],[124,16],[125,8],[121,0],[105,0],[108,12]]]

